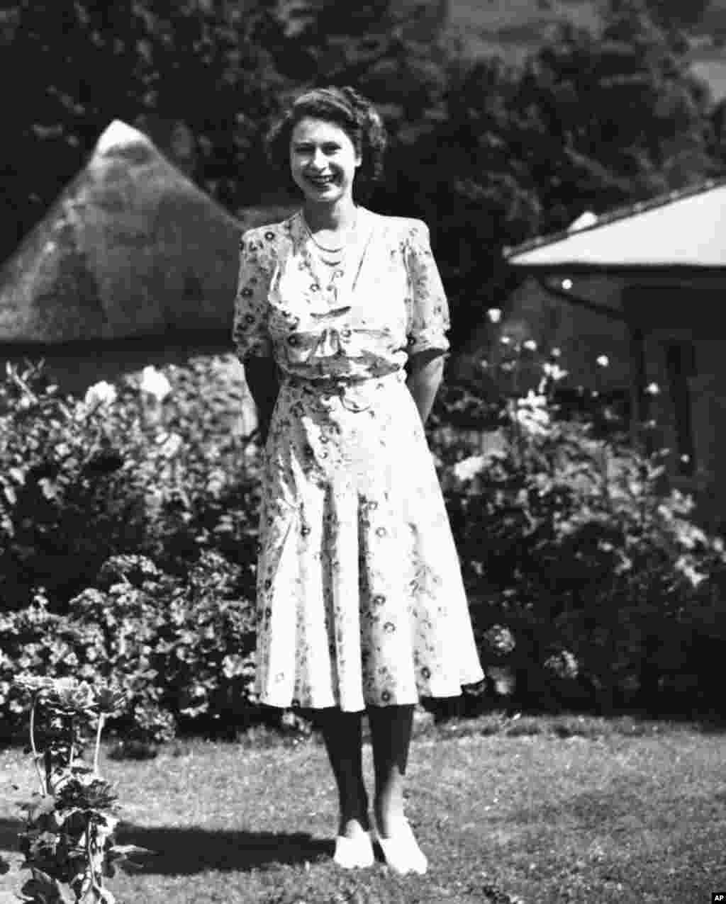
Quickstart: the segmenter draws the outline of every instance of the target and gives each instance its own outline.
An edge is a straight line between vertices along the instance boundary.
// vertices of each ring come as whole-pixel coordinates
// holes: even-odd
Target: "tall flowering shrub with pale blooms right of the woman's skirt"
[[[518,388],[533,351],[507,348],[500,385]],[[596,437],[591,419],[561,419],[557,358],[540,364],[536,390],[493,398],[487,377],[479,450],[467,432],[440,429],[461,391],[438,405],[432,446],[485,667],[508,664],[522,703],[650,706],[689,673],[690,702],[720,705],[709,657],[726,640],[723,542],[693,523],[689,497],[667,490],[659,454],[617,431]],[[505,655],[493,626],[514,636]]]

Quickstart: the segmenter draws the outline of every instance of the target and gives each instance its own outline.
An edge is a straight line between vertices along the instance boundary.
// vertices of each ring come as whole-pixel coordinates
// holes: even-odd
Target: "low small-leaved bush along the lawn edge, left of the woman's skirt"
[[[94,587],[66,615],[37,595],[0,616],[0,712],[19,725],[18,675],[113,683],[126,708],[109,721],[125,743],[156,744],[179,727],[230,730],[249,716],[255,607],[241,594],[242,570],[203,552],[181,580],[140,556],[104,563]]]

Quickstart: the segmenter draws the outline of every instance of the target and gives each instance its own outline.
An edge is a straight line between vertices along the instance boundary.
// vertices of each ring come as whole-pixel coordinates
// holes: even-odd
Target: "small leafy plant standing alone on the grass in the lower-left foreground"
[[[26,825],[20,846],[31,878],[21,899],[114,904],[103,882],[130,848],[114,844],[116,795],[99,775],[99,749],[104,721],[123,705],[123,694],[74,678],[24,676],[16,684],[31,697],[30,752],[39,784],[31,801],[22,805]],[[81,750],[94,720],[90,767]]]

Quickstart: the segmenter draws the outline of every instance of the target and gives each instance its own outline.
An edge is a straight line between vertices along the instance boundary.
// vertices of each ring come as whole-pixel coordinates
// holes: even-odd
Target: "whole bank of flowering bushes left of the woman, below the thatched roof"
[[[257,446],[227,358],[84,400],[42,369],[0,383],[0,713],[17,674],[118,678],[127,744],[250,707]],[[5,614],[2,614],[5,611]]]

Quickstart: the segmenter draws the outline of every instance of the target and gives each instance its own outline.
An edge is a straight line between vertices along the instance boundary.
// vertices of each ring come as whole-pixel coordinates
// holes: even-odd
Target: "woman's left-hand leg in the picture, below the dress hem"
[[[338,834],[349,837],[368,831],[368,795],[363,781],[362,712],[320,710],[316,720],[338,786],[340,824]]]

